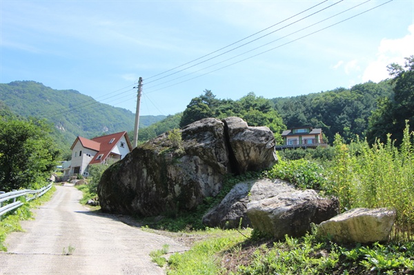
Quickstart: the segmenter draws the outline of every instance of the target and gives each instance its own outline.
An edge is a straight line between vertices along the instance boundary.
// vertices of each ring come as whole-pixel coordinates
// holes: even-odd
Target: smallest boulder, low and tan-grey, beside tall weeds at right
[[[386,242],[395,215],[395,210],[387,208],[354,208],[321,223],[317,234],[338,243]]]

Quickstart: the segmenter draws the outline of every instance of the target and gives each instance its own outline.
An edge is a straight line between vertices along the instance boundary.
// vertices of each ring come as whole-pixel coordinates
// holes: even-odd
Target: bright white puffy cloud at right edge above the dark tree
[[[414,24],[408,26],[408,34],[401,39],[382,39],[377,59],[368,64],[362,81],[379,82],[389,77],[386,66],[391,63],[404,64],[404,57],[414,54]]]

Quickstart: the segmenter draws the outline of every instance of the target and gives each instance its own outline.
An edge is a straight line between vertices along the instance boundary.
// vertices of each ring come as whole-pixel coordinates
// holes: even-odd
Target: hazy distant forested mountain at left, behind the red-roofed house
[[[134,129],[135,114],[129,110],[99,103],[75,90],[54,90],[35,81],[0,84],[1,101],[0,113],[46,119],[54,128],[55,139],[63,139],[59,144],[63,147],[70,147],[76,136],[92,138]],[[164,118],[141,116],[139,127],[148,127]]]

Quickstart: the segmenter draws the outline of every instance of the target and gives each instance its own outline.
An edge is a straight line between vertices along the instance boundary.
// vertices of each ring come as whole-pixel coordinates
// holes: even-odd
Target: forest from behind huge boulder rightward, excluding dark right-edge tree
[[[392,95],[391,81],[367,82],[349,89],[336,88],[317,94],[275,99],[264,99],[250,92],[235,101],[216,99],[213,92],[205,90],[187,105],[180,126],[210,116],[218,119],[239,116],[248,125],[268,126],[279,143],[282,142],[280,134],[283,130],[305,125],[322,128],[328,143],[333,142],[337,133],[351,141],[357,136],[366,136],[369,118],[377,110],[378,102]]]

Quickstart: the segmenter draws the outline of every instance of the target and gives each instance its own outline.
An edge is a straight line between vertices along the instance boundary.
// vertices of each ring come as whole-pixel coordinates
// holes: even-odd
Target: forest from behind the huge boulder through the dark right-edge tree
[[[239,116],[248,125],[268,126],[278,142],[284,129],[311,126],[322,128],[331,144],[335,134],[348,143],[367,138],[372,144],[375,139],[386,141],[388,133],[399,144],[405,121],[414,117],[414,57],[406,58],[404,65],[389,65],[388,71],[391,78],[380,83],[368,81],[351,88],[275,99],[253,92],[239,100],[216,99],[212,91],[205,90],[187,105],[180,126],[210,116]]]

